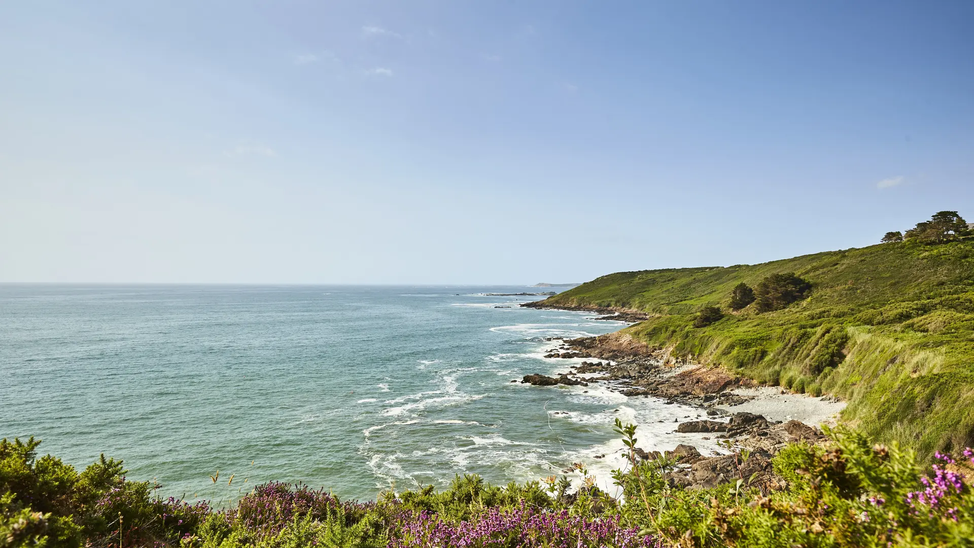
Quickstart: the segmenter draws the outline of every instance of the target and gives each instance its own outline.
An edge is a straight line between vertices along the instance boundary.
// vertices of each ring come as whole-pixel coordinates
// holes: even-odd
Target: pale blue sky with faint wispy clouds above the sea
[[[971,20],[0,3],[0,282],[583,282],[974,221]]]

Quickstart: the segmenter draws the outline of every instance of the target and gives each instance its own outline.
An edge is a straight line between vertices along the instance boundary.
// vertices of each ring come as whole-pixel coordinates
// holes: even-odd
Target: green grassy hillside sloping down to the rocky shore
[[[809,298],[745,309],[693,329],[693,312],[739,282],[794,271]],[[549,297],[552,305],[657,314],[627,328],[677,355],[771,384],[843,396],[843,418],[928,456],[974,446],[974,240],[883,244],[756,265],[618,272]]]

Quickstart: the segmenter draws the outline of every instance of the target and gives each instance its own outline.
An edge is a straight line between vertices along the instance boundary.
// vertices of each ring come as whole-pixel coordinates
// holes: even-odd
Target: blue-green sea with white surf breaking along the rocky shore
[[[626,326],[491,295],[540,291],[0,284],[0,437],[217,506],[269,481],[360,500],[463,474],[577,483],[576,462],[612,490],[617,418],[647,450],[717,449],[673,433],[697,409],[518,382],[581,363],[544,358],[552,337]]]

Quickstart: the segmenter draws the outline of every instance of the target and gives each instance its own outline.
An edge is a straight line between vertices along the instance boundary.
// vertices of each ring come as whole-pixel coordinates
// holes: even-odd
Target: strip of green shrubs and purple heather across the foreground
[[[635,427],[618,425],[634,447]],[[616,472],[624,496],[547,478],[506,488],[458,477],[450,489],[385,491],[342,501],[323,489],[271,483],[231,508],[153,496],[102,457],[78,473],[38,442],[0,443],[0,546],[244,547],[883,547],[974,546],[974,491],[960,470],[974,452],[937,454],[924,475],[915,454],[830,432],[824,447],[796,444],[773,460],[783,489],[735,484],[671,488],[674,462]],[[743,462],[747,453],[737,454]],[[730,489],[729,489],[730,488]]]

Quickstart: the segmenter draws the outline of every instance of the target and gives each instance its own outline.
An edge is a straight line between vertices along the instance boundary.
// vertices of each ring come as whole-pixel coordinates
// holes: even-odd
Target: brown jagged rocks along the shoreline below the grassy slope
[[[549,308],[534,302],[521,306]],[[606,308],[592,310],[580,307],[576,310],[603,314],[595,318],[599,320],[633,322],[641,321],[636,319],[640,315],[642,319],[648,317],[642,313]],[[593,382],[606,382],[611,383],[610,389],[625,396],[653,397],[665,404],[684,404],[706,412],[708,419],[680,422],[675,425],[674,432],[713,433],[714,438],[727,444],[731,454],[704,456],[690,445],[680,445],[664,453],[637,450],[640,458],[660,463],[665,461],[667,471],[664,478],[673,487],[709,489],[744,480],[750,487],[779,489],[784,484],[773,473],[771,457],[789,443],[818,443],[825,439],[814,425],[799,420],[771,420],[755,412],[726,409],[752,401],[760,404],[760,400],[756,401],[759,396],[735,392],[740,389],[754,393],[758,385],[751,379],[720,368],[707,368],[674,359],[665,350],[650,348],[626,334],[609,333],[560,339],[559,342],[556,348],[547,351],[545,358],[581,358],[586,361],[572,364],[570,372],[558,376],[535,373],[525,375],[520,382],[535,386],[588,386]]]

